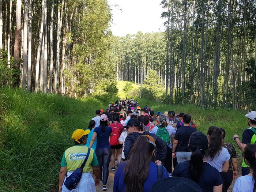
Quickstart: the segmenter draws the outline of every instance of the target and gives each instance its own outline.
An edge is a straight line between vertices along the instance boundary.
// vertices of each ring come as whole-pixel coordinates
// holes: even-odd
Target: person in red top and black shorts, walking
[[[124,127],[122,124],[119,123],[119,116],[118,114],[114,114],[113,116],[113,123],[111,125],[109,125],[109,127],[112,128],[112,133],[113,135],[110,137],[110,146],[111,146],[111,164],[112,164],[112,171],[116,170],[115,167],[115,158],[117,157],[117,167],[119,166],[119,164],[121,163],[121,153],[122,153],[122,147],[123,145],[121,145],[119,143],[119,137],[121,135],[121,133],[124,131]]]

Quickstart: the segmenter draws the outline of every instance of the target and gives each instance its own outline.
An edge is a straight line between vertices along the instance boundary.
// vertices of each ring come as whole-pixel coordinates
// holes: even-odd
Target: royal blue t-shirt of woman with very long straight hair
[[[128,161],[124,161],[118,166],[116,174],[114,176],[114,192],[124,192],[126,185],[124,183],[124,168]],[[151,186],[155,181],[157,181],[157,164],[149,162],[149,173],[143,185],[143,191],[149,192]],[[169,177],[167,170],[163,167],[163,178]]]

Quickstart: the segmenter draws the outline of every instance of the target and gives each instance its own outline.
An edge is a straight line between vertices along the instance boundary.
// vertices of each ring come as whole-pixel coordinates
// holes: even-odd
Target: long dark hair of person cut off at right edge
[[[248,144],[244,148],[244,158],[249,163],[250,169],[252,169],[252,177],[254,180],[253,192],[256,192],[256,145]]]

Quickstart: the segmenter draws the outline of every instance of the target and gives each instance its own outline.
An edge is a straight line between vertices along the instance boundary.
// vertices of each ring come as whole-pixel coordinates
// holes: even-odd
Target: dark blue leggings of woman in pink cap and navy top
[[[103,149],[96,148],[95,154],[99,163],[99,179],[102,179],[103,167],[103,185],[106,185],[109,177],[109,162],[112,155],[111,147]]]

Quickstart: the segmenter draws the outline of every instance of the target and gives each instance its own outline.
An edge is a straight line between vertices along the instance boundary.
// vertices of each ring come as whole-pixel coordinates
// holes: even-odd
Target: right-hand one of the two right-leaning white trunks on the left
[[[61,2],[62,2],[62,4],[61,4]],[[58,5],[59,5],[58,6],[59,8],[58,8],[58,22],[57,22],[56,68],[55,68],[54,90],[53,90],[54,93],[56,93],[57,83],[60,81],[60,79],[59,79],[59,72],[60,72],[60,35],[61,35],[61,27],[62,27],[62,14],[63,14],[64,0],[59,0]]]

